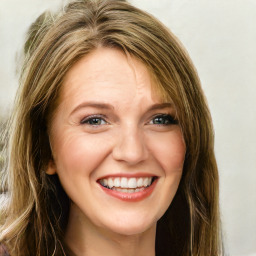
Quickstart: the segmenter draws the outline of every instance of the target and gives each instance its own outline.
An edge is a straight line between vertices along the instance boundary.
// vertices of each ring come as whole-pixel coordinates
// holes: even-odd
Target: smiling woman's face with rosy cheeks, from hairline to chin
[[[68,71],[47,173],[58,174],[81,223],[138,234],[170,205],[186,148],[173,104],[153,83],[144,64],[116,49],[99,48]]]

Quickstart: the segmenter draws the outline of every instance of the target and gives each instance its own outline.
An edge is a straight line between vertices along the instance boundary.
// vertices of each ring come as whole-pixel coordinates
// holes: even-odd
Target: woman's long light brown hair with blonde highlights
[[[51,159],[47,126],[67,71],[97,47],[140,59],[172,100],[186,144],[177,194],[158,221],[156,255],[221,255],[213,127],[197,72],[178,39],[157,19],[121,0],[76,0],[31,26],[20,88],[8,126],[0,243],[11,255],[65,255],[69,198]]]

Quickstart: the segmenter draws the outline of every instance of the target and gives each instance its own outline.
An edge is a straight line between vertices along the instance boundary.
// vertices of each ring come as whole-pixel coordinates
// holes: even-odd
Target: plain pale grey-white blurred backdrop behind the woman
[[[25,32],[64,0],[0,0],[0,119],[12,107]],[[256,255],[256,0],[132,0],[167,25],[198,69],[212,112],[228,255]]]

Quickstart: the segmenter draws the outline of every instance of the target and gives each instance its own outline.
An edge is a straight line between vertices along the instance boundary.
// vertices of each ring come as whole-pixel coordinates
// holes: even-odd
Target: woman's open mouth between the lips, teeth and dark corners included
[[[109,177],[100,179],[98,182],[104,188],[118,191],[121,193],[136,193],[149,188],[157,179],[156,176],[151,177]]]

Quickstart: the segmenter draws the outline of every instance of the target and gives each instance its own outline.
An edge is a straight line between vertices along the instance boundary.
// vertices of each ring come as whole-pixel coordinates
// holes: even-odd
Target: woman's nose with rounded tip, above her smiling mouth
[[[148,157],[146,141],[138,128],[126,128],[119,132],[112,151],[113,158],[129,165],[143,162]]]

